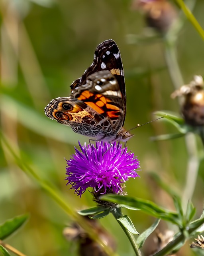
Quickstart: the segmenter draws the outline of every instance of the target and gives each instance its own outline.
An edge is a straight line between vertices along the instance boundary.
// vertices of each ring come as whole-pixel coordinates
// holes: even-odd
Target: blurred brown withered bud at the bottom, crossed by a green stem
[[[94,230],[98,233],[98,236],[102,242],[112,248],[113,251],[116,251],[116,242],[114,238],[108,233],[108,231],[100,226],[97,220],[92,220],[88,217],[84,218],[86,218],[86,221],[90,222]],[[78,242],[79,256],[107,256],[103,248],[94,240],[92,240],[86,231],[77,223],[65,228],[63,235],[69,241]]]

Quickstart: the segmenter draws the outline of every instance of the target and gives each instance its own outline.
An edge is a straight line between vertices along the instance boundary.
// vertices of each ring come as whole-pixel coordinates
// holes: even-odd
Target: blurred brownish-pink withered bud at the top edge
[[[167,0],[133,0],[132,8],[141,9],[145,13],[147,26],[165,33],[178,17],[178,12]]]

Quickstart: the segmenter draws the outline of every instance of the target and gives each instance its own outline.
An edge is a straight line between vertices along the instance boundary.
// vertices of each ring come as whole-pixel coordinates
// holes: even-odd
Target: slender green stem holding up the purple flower
[[[112,210],[112,214],[113,216],[116,218],[116,220],[118,221],[118,219],[120,217],[123,216],[122,212],[121,212],[121,209],[120,208],[114,208]],[[132,247],[133,247],[133,250],[135,252],[135,255],[137,256],[141,256],[141,252],[139,251],[139,248],[137,247],[137,243],[136,243],[136,240],[133,236],[133,234],[131,232],[129,232],[127,230],[127,228],[125,228],[122,223],[120,221],[118,221],[118,223],[120,224],[120,226],[122,227],[123,231],[126,233],[126,236],[128,237],[129,239],[129,242],[131,243]]]

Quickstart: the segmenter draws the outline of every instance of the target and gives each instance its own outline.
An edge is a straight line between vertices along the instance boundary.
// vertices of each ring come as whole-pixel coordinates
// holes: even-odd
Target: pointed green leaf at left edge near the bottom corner
[[[12,233],[14,233],[18,228],[20,228],[28,219],[29,215],[24,214],[7,220],[0,225],[0,240],[4,240]]]

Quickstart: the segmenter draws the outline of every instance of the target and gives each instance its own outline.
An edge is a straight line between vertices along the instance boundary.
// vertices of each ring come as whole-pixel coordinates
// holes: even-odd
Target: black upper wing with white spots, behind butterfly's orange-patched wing
[[[124,125],[125,116],[126,116],[126,87],[124,80],[124,70],[122,65],[122,59],[120,55],[120,50],[114,42],[114,40],[106,40],[99,44],[96,48],[94,54],[94,60],[91,66],[84,72],[81,78],[78,78],[71,84],[71,89],[80,88],[82,85],[87,83],[87,78],[100,71],[108,70],[112,75],[115,76],[122,99],[120,100],[121,108],[123,110],[122,124]],[[114,96],[114,95],[113,95]],[[111,95],[109,95],[110,99]],[[113,98],[116,98],[115,96]],[[119,128],[119,126],[118,126]]]

